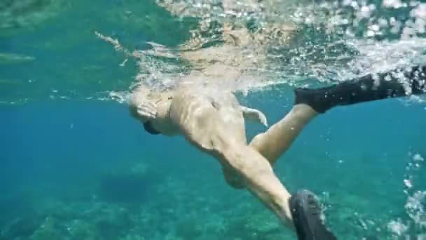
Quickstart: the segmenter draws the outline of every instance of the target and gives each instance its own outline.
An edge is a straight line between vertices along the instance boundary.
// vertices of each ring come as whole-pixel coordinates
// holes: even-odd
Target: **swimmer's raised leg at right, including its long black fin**
[[[386,98],[397,98],[426,91],[426,66],[416,66],[399,74],[369,74],[327,88],[297,88],[291,112],[268,131],[250,142],[271,165],[289,148],[303,127],[317,114],[338,105],[353,105]]]

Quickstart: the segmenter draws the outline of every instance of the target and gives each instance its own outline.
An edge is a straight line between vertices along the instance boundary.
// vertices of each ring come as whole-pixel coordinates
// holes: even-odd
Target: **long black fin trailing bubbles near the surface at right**
[[[324,113],[338,105],[418,95],[425,91],[426,66],[415,66],[391,72],[368,74],[327,88],[296,88],[295,105],[304,103],[316,112]]]

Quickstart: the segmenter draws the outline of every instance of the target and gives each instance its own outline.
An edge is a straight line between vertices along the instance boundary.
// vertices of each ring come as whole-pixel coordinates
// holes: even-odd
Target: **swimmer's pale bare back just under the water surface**
[[[220,131],[233,133],[239,144],[247,144],[241,106],[232,93],[212,88],[178,91],[170,106],[170,118],[181,132],[203,150],[214,149],[211,137]],[[200,131],[202,129],[202,131]]]

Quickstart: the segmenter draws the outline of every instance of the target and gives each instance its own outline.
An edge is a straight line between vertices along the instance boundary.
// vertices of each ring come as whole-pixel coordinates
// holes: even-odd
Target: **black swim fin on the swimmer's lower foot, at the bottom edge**
[[[321,220],[321,207],[314,194],[298,191],[289,200],[298,240],[336,240]]]

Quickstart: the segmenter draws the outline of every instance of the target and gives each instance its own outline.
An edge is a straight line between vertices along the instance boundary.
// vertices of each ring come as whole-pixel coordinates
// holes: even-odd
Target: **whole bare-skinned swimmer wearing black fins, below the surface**
[[[333,107],[425,93],[426,65],[400,70],[399,74],[368,74],[326,88],[296,88],[291,111],[248,145],[245,119],[267,125],[266,117],[257,109],[241,106],[233,93],[203,86],[179,86],[165,93],[139,87],[132,93],[129,107],[148,133],[184,135],[216,158],[229,185],[247,188],[295,229],[298,239],[329,240],[336,236],[320,219],[315,195],[308,190],[289,194],[273,166],[315,116]]]

